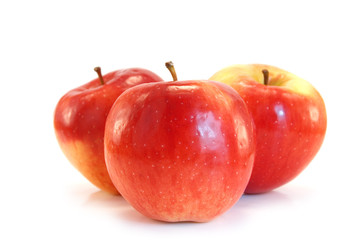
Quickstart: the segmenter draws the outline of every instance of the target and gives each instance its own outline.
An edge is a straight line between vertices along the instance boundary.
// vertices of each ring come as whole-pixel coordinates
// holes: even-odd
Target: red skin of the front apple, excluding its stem
[[[205,222],[241,197],[254,160],[243,100],[210,81],[149,83],[114,103],[105,158],[114,185],[152,219]]]

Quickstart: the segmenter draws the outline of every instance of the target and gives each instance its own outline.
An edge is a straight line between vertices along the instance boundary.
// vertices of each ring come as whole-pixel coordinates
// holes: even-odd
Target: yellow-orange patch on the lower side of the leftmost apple
[[[59,142],[59,144],[69,162],[86,179],[108,193],[119,194],[109,177],[105,163],[98,161],[98,157],[91,148],[86,147],[78,140],[68,141],[67,143]]]

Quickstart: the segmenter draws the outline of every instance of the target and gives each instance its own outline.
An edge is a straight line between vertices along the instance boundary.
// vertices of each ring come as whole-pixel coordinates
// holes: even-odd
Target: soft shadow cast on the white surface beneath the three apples
[[[287,205],[293,205],[299,197],[307,197],[308,194],[311,194],[309,189],[294,187],[290,189],[277,189],[262,194],[244,194],[229,211],[211,222],[218,226],[247,223],[257,211],[269,208],[284,208]],[[167,223],[150,219],[135,210],[122,196],[112,195],[99,190],[90,193],[84,205],[106,212],[106,214],[110,214],[121,221],[136,222],[149,226],[168,225],[174,229],[174,227],[178,228],[188,224],[192,226],[203,225],[203,223],[194,224],[194,222]]]

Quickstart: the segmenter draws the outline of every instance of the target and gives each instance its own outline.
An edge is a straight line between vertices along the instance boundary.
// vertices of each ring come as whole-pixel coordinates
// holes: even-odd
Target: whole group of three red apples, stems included
[[[131,68],[102,75],[58,102],[54,127],[69,161],[95,186],[143,215],[207,222],[244,193],[294,179],[320,149],[327,125],[307,81],[261,64],[209,80],[173,81]]]

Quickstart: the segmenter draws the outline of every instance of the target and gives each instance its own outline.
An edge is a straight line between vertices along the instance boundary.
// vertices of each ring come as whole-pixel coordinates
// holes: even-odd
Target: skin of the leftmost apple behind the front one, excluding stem
[[[98,188],[118,194],[104,160],[105,120],[115,100],[128,88],[160,82],[156,74],[140,68],[117,70],[66,93],[58,102],[54,128],[68,160]]]

